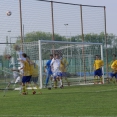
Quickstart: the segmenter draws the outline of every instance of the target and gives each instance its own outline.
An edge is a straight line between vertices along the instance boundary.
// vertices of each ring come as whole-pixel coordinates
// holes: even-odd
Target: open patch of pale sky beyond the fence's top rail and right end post
[[[117,35],[117,0],[55,0],[58,2],[106,6],[107,32]]]

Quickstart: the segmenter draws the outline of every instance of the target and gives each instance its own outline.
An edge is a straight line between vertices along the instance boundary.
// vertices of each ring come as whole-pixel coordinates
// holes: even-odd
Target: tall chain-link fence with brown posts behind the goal
[[[108,73],[117,39],[106,35],[105,6],[46,0],[10,0],[10,3],[4,0],[0,5],[1,43],[38,40],[103,43],[104,69]],[[6,15],[8,10],[11,16]]]

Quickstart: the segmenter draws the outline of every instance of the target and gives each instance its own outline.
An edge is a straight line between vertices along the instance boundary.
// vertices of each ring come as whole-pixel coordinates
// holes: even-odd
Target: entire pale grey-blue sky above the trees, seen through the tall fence
[[[12,42],[20,35],[19,0],[0,1],[0,40],[6,42],[6,36]],[[117,35],[117,0],[55,0],[58,2],[106,6],[107,33]],[[11,16],[6,12],[10,10]],[[104,31],[104,14],[102,8],[83,7],[84,33],[100,33]],[[33,31],[52,33],[51,4],[37,0],[22,0],[22,19],[24,34]],[[54,4],[55,33],[63,36],[81,34],[80,7],[73,5]],[[65,25],[68,24],[68,25]],[[10,40],[9,40],[10,41]]]

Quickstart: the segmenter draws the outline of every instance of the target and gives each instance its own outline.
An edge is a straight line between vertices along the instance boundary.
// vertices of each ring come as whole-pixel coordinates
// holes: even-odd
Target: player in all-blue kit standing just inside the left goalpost
[[[50,54],[50,60],[48,60],[47,63],[46,63],[46,73],[47,73],[47,76],[46,76],[46,87],[48,85],[49,78],[52,75],[51,66],[50,66],[50,63],[51,63],[52,59],[53,59],[53,55]]]

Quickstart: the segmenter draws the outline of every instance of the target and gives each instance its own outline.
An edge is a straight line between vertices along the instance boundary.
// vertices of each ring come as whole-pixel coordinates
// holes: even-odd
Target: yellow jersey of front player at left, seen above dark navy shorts
[[[27,61],[23,61],[23,76],[30,76],[30,64]]]

